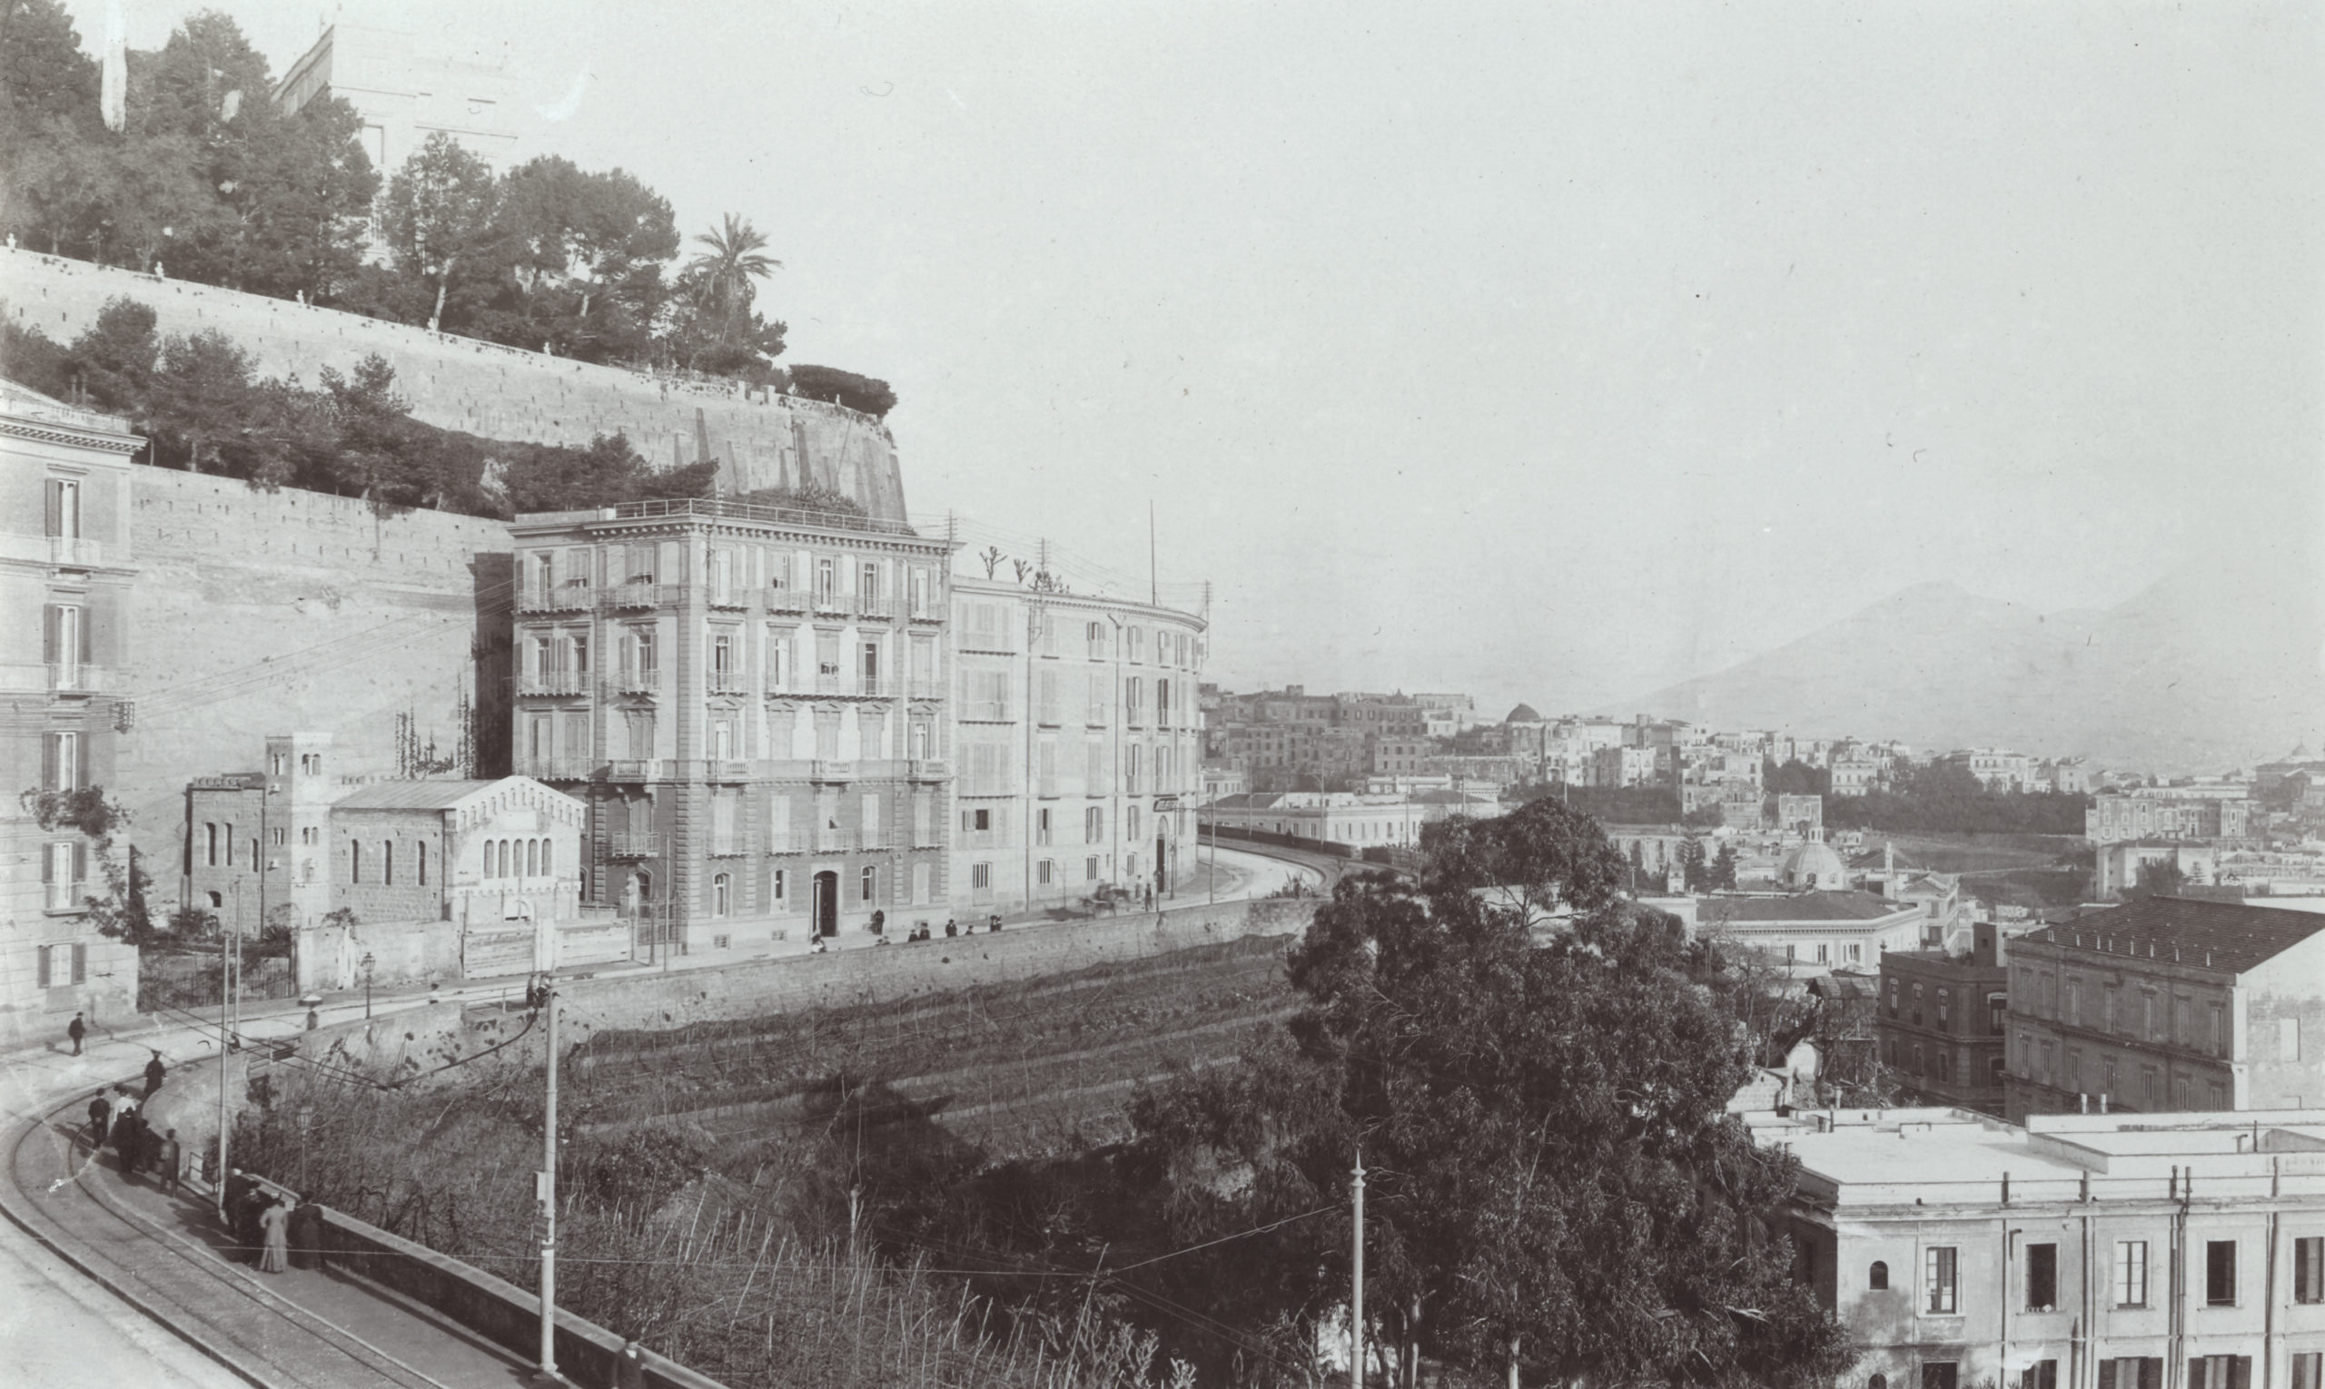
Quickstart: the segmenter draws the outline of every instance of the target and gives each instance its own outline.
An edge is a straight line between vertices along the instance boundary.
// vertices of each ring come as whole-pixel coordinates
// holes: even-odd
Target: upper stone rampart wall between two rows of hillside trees
[[[444,430],[516,444],[588,444],[621,432],[658,467],[718,460],[730,492],[825,485],[872,516],[907,520],[895,437],[872,416],[818,400],[595,367],[23,249],[0,246],[0,295],[19,325],[58,344],[95,323],[107,300],[137,300],[153,309],[163,337],[214,328],[249,351],[263,376],[307,386],[319,367],[351,372],[379,353],[414,418]]]

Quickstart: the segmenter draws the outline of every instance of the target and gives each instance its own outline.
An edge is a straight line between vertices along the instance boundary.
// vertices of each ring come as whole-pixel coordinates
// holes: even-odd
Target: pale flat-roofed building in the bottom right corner
[[[2325,1110],[1744,1117],[1867,1389],[2311,1389]]]

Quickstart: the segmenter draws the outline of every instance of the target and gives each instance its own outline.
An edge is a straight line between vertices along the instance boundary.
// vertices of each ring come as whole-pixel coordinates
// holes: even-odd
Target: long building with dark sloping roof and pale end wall
[[[2146,897],[2011,941],[2011,1117],[2325,1099],[2325,915]]]

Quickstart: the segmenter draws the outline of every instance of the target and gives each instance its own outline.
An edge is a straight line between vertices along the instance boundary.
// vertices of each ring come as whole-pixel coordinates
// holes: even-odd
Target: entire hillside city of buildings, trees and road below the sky
[[[7,26],[26,1382],[2325,1384],[2325,746],[1237,690],[507,67]]]

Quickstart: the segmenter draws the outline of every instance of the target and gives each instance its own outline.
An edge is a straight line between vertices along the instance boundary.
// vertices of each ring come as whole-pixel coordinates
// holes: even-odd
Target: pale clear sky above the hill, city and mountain
[[[326,19],[216,7],[277,72]],[[1230,688],[1621,706],[1916,583],[2325,583],[2313,5],[332,9],[765,230],[923,527],[1130,592],[1151,509]]]

